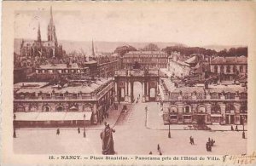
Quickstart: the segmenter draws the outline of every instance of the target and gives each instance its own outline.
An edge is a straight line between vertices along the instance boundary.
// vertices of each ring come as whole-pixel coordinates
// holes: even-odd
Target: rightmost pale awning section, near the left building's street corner
[[[65,121],[72,121],[72,120],[90,120],[92,112],[67,112],[66,117],[64,118]]]

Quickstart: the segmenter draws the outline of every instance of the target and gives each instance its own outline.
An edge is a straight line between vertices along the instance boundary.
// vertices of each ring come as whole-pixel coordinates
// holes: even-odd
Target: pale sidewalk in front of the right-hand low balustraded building
[[[189,130],[189,124],[171,124],[171,130]],[[219,125],[212,124],[207,125],[212,131],[231,131],[231,124]],[[237,125],[238,130],[242,131],[242,125]],[[168,130],[169,125],[164,125],[162,112],[160,112],[160,105],[154,103],[148,106],[147,112],[147,121],[146,121],[147,129],[155,129],[155,130]],[[233,124],[233,128],[236,129],[236,125]],[[247,125],[244,126],[244,129],[247,130]]]

